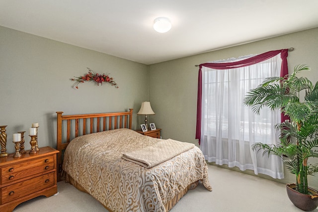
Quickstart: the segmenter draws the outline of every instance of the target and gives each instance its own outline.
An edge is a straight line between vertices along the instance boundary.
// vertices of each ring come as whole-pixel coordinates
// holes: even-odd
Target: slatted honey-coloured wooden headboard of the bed
[[[66,147],[74,138],[100,131],[118,128],[131,129],[133,109],[128,112],[93,113],[62,115],[57,113],[57,157],[58,181],[61,181],[63,155]],[[128,118],[129,116],[129,118]],[[63,130],[64,129],[64,130]]]

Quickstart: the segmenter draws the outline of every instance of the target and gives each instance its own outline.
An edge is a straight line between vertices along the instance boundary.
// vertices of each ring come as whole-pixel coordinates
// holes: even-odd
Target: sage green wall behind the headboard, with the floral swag
[[[70,79],[87,73],[110,73],[118,83],[93,82],[72,88]],[[0,26],[0,125],[8,125],[7,152],[14,152],[13,133],[39,123],[39,146],[56,147],[56,111],[85,114],[134,108],[133,128],[143,121],[137,112],[149,101],[149,67],[77,46]]]

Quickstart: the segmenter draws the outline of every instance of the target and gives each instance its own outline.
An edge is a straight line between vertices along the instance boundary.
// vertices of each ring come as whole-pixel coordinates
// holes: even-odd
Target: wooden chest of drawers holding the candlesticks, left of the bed
[[[56,154],[51,147],[40,148],[30,155],[27,151],[21,157],[14,153],[0,158],[0,212],[13,209],[38,196],[50,197],[57,190]]]

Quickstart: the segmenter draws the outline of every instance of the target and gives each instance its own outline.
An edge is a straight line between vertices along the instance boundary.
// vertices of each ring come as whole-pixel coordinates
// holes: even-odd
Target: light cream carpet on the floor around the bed
[[[213,191],[202,184],[190,190],[170,212],[302,212],[288,199],[286,185],[209,166]],[[107,212],[90,195],[59,182],[58,194],[38,197],[17,206],[14,212]],[[316,209],[314,212],[318,212]]]

